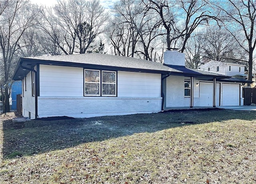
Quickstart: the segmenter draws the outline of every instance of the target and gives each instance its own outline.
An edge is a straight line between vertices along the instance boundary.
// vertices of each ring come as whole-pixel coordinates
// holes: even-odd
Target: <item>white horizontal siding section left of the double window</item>
[[[83,96],[83,68],[40,65],[40,96]]]

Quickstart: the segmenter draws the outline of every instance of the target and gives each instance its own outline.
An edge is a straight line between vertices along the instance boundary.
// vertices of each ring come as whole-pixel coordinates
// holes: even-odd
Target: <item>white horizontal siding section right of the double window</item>
[[[118,71],[118,97],[161,97],[161,74]]]

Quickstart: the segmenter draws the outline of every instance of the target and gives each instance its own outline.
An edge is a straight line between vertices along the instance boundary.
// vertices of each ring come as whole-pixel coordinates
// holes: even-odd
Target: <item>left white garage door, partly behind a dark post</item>
[[[200,82],[200,106],[212,106],[213,84]],[[216,84],[216,106],[220,104],[220,84]]]

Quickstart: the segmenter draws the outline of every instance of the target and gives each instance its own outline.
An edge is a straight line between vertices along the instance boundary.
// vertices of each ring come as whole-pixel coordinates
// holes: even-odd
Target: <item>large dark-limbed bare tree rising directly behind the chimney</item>
[[[184,52],[186,43],[199,25],[205,25],[209,20],[216,19],[203,0],[144,0],[149,9],[159,14],[162,25],[166,29],[166,43],[170,48],[180,43]],[[182,22],[182,23],[180,23]]]

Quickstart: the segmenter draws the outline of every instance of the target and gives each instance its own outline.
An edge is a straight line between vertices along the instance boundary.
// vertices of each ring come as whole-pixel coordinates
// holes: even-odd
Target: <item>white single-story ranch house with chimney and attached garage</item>
[[[185,67],[184,53],[164,63],[99,53],[20,58],[23,115],[94,117],[172,107],[243,105],[245,80]]]

